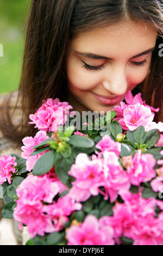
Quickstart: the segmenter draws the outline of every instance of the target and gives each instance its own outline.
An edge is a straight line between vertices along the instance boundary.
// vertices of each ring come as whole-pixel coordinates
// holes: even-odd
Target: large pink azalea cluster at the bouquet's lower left
[[[67,195],[53,203],[53,198],[64,190],[64,186],[54,175],[34,176],[30,174],[17,188],[17,206],[14,218],[17,222],[27,225],[31,237],[36,234],[59,231],[68,221],[74,210],[82,205]],[[53,203],[53,204],[52,204]],[[20,228],[22,228],[22,224]]]

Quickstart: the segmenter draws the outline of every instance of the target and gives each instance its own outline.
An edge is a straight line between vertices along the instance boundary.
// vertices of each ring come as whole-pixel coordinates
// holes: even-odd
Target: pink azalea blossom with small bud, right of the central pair
[[[126,162],[127,161],[127,162]],[[124,167],[126,167],[127,174],[131,184],[139,186],[141,182],[150,181],[156,176],[153,169],[155,166],[155,159],[151,154],[142,154],[139,149],[131,159],[131,157],[122,157]]]

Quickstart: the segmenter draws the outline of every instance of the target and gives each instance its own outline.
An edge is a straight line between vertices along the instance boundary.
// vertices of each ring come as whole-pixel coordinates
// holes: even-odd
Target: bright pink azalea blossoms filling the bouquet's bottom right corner
[[[159,206],[155,198],[142,198],[142,189],[138,193],[121,191],[123,203],[116,202],[112,207],[112,216],[101,217],[103,225],[114,229],[114,238],[119,245],[121,236],[133,240],[133,245],[155,245],[162,243],[163,221],[155,218],[155,207]]]

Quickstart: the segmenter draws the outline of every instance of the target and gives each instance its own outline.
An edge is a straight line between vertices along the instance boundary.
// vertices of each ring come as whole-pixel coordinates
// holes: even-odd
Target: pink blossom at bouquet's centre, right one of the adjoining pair
[[[110,197],[110,202],[114,202],[121,190],[129,190],[130,181],[126,171],[123,170],[118,157],[114,152],[105,151],[103,153],[103,169],[104,169],[104,188],[105,197]]]

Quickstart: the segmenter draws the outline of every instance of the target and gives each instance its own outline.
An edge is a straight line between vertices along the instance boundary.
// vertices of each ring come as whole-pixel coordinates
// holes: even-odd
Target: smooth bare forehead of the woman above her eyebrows
[[[111,58],[135,56],[155,46],[157,31],[145,23],[128,21],[93,29],[72,39],[70,47],[79,52],[101,54]]]

